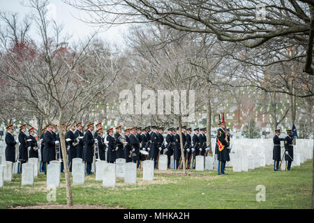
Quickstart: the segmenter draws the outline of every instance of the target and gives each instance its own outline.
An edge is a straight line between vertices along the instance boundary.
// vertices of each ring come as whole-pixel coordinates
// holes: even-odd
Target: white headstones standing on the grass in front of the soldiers
[[[232,141],[232,150],[230,153],[230,162],[227,167],[232,167],[232,171],[248,171],[257,167],[264,167],[273,164],[273,148],[271,139],[234,139]],[[283,147],[283,141],[281,142]],[[17,162],[5,161],[3,149],[0,150],[0,188],[3,182],[12,180],[13,174],[17,171]],[[284,154],[284,148],[281,148],[281,154]],[[313,139],[297,139],[294,146],[294,161],[292,167],[299,166],[308,159],[313,158]],[[29,158],[27,163],[22,164],[22,185],[33,185],[34,178],[38,176],[39,169],[38,158]],[[170,168],[173,169],[173,156],[170,160]],[[137,176],[136,164],[126,163],[125,159],[117,159],[114,164],[105,161],[96,161],[94,163],[94,172],[96,180],[103,180],[104,187],[115,187],[116,178],[124,178],[124,183],[135,184]],[[213,170],[218,167],[216,156],[204,157],[197,155],[195,157],[195,170],[204,171]],[[154,179],[154,161],[145,160],[142,162],[143,180]],[[158,160],[158,169],[167,170],[167,155],[160,155]],[[281,165],[285,169],[285,164]],[[61,176],[61,163],[51,161],[47,166],[47,188],[59,187]],[[73,184],[84,184],[85,165],[80,158],[73,159],[72,167]]]

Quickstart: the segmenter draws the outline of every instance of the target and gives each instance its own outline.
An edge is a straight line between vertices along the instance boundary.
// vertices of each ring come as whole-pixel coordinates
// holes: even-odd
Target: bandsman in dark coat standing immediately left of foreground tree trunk
[[[43,150],[45,175],[47,174],[47,165],[49,164],[49,162],[56,159],[55,146],[56,144],[60,144],[60,141],[55,140],[54,135],[52,134],[52,126],[48,124],[46,125],[46,128],[47,130],[43,137],[43,141],[45,144],[45,147]]]

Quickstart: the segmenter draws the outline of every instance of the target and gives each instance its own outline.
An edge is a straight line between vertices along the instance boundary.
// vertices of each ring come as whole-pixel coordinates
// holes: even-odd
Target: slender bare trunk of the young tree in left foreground
[[[66,132],[62,131],[62,114],[59,116],[59,136],[60,136],[60,144],[61,144],[61,151],[62,151],[62,158],[63,158],[63,167],[64,173],[66,175],[66,203],[68,206],[73,206],[73,199],[72,199],[72,190],[71,190],[71,181],[70,181],[70,170],[68,168],[68,156],[66,155]]]

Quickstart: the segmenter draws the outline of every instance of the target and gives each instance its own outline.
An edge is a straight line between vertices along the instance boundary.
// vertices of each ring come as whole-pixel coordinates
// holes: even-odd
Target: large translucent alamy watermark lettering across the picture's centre
[[[123,90],[119,93],[119,100],[121,114],[180,114],[184,122],[193,122],[195,119],[194,90],[158,90],[156,93],[150,89],[142,91],[141,84],[135,84],[135,95],[131,90]]]

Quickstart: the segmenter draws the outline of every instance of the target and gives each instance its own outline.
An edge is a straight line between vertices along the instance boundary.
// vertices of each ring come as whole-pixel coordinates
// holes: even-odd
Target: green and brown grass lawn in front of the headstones
[[[248,172],[232,172],[218,176],[217,171],[155,169],[154,180],[142,180],[137,169],[137,183],[126,185],[117,178],[116,187],[103,187],[95,174],[86,176],[84,185],[72,185],[73,203],[80,208],[311,208],[312,160],[292,170],[273,171],[273,166],[259,167]],[[257,185],[266,188],[266,201],[256,201]],[[66,206],[65,177],[57,188],[56,201],[47,201],[46,176],[38,173],[34,185],[21,185],[21,175],[13,175],[0,189],[0,208],[21,206]],[[50,206],[47,206],[50,205]]]

